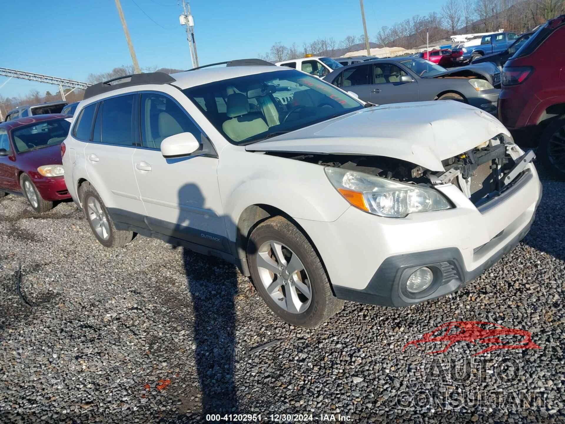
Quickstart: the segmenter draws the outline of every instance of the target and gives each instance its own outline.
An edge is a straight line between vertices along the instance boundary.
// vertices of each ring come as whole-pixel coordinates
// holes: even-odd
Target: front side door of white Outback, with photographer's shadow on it
[[[163,93],[142,93],[141,144],[133,168],[152,230],[229,251],[218,187],[217,157],[164,158],[160,144],[169,136],[202,132],[186,111]]]

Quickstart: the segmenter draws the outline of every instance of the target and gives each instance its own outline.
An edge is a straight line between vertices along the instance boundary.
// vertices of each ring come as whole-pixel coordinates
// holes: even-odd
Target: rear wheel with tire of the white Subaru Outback
[[[116,230],[106,205],[90,183],[82,183],[79,188],[79,197],[90,230],[100,244],[107,248],[119,248],[132,241],[132,231]]]

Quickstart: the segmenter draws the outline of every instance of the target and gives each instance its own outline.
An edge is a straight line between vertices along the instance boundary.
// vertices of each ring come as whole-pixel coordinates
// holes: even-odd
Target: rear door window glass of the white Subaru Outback
[[[102,106],[102,142],[136,145],[133,133],[133,94],[106,99]]]

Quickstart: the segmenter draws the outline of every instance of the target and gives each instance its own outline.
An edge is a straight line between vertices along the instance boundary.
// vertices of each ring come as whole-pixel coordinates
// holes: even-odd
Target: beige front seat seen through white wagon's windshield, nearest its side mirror
[[[269,129],[262,114],[249,113],[249,100],[245,94],[229,94],[227,115],[231,119],[225,121],[221,129],[233,141],[242,141]]]

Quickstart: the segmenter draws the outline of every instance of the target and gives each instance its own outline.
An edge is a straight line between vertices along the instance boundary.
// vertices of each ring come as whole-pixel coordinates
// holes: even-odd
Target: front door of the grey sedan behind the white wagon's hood
[[[371,102],[377,105],[386,103],[417,102],[419,100],[418,83],[402,83],[400,77],[408,75],[394,63],[373,63]]]

